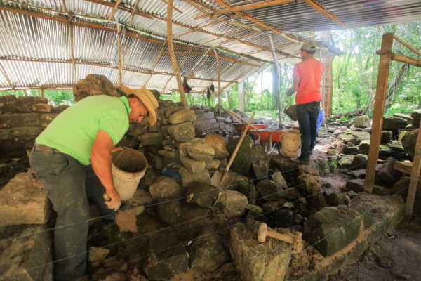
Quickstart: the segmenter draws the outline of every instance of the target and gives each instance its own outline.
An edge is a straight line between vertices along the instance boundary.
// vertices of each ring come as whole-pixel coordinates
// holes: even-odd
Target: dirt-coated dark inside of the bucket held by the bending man
[[[147,161],[142,152],[124,148],[112,155],[112,163],[126,173],[138,173],[145,169]]]

